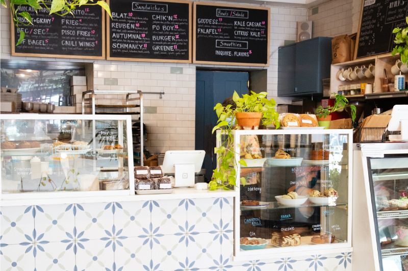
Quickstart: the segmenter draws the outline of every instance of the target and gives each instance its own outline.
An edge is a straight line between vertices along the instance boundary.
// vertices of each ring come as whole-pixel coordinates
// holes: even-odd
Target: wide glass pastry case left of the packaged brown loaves
[[[130,116],[2,114],[0,119],[3,199],[72,195],[69,191],[134,194]]]

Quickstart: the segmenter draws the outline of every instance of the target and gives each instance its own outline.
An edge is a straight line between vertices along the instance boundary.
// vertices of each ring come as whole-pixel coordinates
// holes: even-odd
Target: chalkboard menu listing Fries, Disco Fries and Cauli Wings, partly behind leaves
[[[29,12],[34,25],[19,26],[25,39],[15,46],[20,31],[11,22],[12,55],[105,59],[105,11],[100,6],[82,6],[65,16],[49,15],[45,8],[37,14],[29,6],[19,10]]]

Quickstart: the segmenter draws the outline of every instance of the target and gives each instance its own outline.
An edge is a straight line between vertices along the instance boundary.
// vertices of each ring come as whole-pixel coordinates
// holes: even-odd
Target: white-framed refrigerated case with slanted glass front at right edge
[[[376,271],[408,270],[408,143],[361,144],[370,259]]]

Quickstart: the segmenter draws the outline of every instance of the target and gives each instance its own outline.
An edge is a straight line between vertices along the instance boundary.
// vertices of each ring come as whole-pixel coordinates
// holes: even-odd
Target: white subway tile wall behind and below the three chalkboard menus
[[[340,1],[341,2],[341,1]],[[267,68],[267,91],[277,103],[290,103],[277,98],[277,49],[285,40],[296,40],[296,21],[308,20],[308,9],[271,7],[270,66]],[[12,57],[10,55],[9,10],[1,8],[1,58],[42,61],[90,62],[86,59],[45,57]],[[193,65],[177,63],[94,61],[94,88],[115,91],[139,89],[144,92],[165,92],[145,95],[145,106],[157,107],[157,113],[145,116],[149,134],[146,147],[151,153],[173,149],[194,149],[195,132],[195,70],[196,67],[259,69],[256,67]],[[117,82],[117,84],[116,84]],[[115,96],[106,102],[118,103]],[[112,101],[113,100],[113,101]],[[120,103],[120,101],[119,101]]]

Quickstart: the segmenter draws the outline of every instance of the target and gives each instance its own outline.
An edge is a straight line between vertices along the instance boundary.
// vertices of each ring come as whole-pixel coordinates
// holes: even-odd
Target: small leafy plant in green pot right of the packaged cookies
[[[351,109],[351,121],[354,122],[356,112],[355,105],[349,105],[347,98],[341,94],[336,94],[335,99],[336,101],[333,106],[327,106],[326,108],[324,108],[320,105],[315,111],[319,126],[324,126],[326,127],[325,129],[328,129],[328,127],[330,126],[330,114],[336,111],[342,111],[347,107]]]

